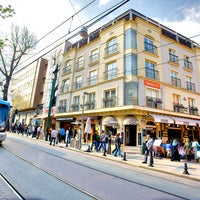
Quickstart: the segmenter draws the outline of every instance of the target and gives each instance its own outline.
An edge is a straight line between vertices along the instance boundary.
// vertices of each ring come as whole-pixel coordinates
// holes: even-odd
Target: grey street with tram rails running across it
[[[0,174],[1,199],[199,199],[196,181],[16,134],[0,148]]]

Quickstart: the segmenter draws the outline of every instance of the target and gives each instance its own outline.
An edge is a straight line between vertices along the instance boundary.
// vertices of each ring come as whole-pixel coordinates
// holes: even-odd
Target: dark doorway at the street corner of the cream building
[[[136,125],[126,125],[125,126],[125,145],[126,146],[136,146]]]

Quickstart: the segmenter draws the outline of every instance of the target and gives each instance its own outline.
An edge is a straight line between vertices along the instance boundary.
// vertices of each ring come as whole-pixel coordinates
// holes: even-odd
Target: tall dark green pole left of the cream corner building
[[[50,119],[51,119],[51,108],[52,108],[52,103],[53,103],[53,96],[54,96],[54,88],[55,88],[55,83],[57,79],[57,73],[58,73],[58,64],[56,64],[55,70],[53,71],[54,78],[52,80],[52,86],[51,86],[51,95],[49,99],[49,108],[48,108],[48,117],[47,117],[47,126],[46,126],[46,135],[45,135],[45,140],[48,140],[48,134],[49,134],[49,127],[50,127]]]

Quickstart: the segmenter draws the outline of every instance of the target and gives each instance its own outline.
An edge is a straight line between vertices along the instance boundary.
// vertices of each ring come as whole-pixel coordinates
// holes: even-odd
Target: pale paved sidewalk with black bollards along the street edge
[[[8,135],[13,135],[13,133],[8,133]],[[35,138],[30,138],[30,137],[27,138],[26,136],[18,134],[16,135],[14,134],[14,136],[21,136],[24,139],[35,140],[38,142],[49,144],[49,141],[45,141],[42,139],[36,140]],[[168,158],[162,158],[162,159],[154,158],[154,167],[149,167],[148,164],[142,163],[144,161],[144,155],[141,154],[126,153],[126,152],[124,154],[123,152],[123,155],[125,156],[121,158],[109,154],[103,156],[103,152],[96,152],[96,151],[87,152],[88,145],[85,144],[82,145],[81,150],[78,150],[73,147],[66,147],[65,143],[59,143],[56,144],[56,146],[62,149],[66,148],[71,151],[79,151],[80,153],[88,154],[90,156],[100,157],[102,159],[109,159],[115,162],[120,162],[135,167],[145,168],[195,181],[200,181],[200,163],[196,163],[194,160],[192,161],[181,160],[180,162],[178,162],[178,161],[171,161]],[[185,166],[187,167],[187,169]],[[188,172],[189,174],[184,174],[185,172]]]

